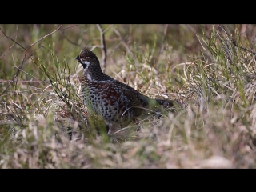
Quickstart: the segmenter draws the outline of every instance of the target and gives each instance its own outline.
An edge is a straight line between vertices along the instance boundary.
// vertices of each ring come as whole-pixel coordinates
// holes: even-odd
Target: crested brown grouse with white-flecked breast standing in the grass
[[[75,58],[83,67],[82,101],[91,114],[100,116],[108,127],[107,134],[114,134],[117,127],[130,122],[154,106],[174,106],[172,100],[153,99],[134,90],[102,72],[98,57],[88,46]]]

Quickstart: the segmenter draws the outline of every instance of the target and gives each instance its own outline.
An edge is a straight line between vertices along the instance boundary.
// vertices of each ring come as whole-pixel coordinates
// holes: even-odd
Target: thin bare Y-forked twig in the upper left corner
[[[50,34],[54,34],[54,33],[55,33],[56,31],[58,31],[61,27],[62,27],[62,25],[58,26],[57,30],[54,30],[54,31],[51,32]],[[24,57],[22,58],[22,63],[21,63],[21,65],[18,67],[18,70],[17,70],[16,73],[14,74],[14,77],[12,78],[11,82],[9,83],[9,85],[6,86],[5,90],[3,90],[2,93],[0,94],[0,95],[2,95],[2,94],[4,94],[4,93],[6,92],[6,90],[10,87],[10,84],[11,84],[12,82],[14,82],[14,79],[18,77],[19,71],[22,69],[22,66],[24,65],[24,62],[26,61],[27,51],[30,50],[30,48],[31,48],[32,46],[34,46],[36,43],[42,41],[42,39],[47,38],[48,36],[50,36],[50,34],[46,34],[45,36],[43,36],[42,38],[40,38],[37,42],[32,43],[30,46],[28,46],[28,47],[25,49],[21,44],[19,44],[18,42],[14,41],[14,39],[8,37],[8,36],[3,32],[3,30],[2,30],[1,28],[0,28],[0,30],[2,31],[2,34],[3,34],[4,36],[6,36],[6,38],[9,38],[11,41],[15,42],[17,45],[21,46],[23,50],[25,50],[25,54],[24,54]],[[30,57],[31,57],[31,55],[29,56],[29,58],[30,58]],[[32,59],[32,58],[31,58],[31,59]]]

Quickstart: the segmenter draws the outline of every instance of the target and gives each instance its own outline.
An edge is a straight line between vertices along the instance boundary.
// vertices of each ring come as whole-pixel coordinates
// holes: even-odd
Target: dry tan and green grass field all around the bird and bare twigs
[[[58,26],[0,25],[0,167],[255,168],[255,26],[242,27],[102,25],[106,74],[182,103],[109,137],[82,104],[74,60],[91,46],[101,61],[98,26],[37,42]]]

